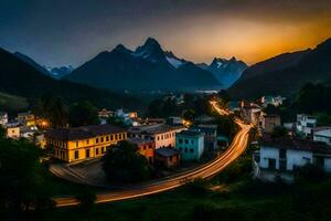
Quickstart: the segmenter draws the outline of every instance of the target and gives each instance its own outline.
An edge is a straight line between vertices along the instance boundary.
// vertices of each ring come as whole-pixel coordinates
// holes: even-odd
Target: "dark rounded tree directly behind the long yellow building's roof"
[[[97,108],[90,102],[75,103],[68,113],[68,122],[73,127],[99,124]]]

